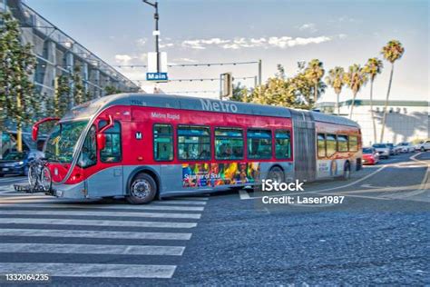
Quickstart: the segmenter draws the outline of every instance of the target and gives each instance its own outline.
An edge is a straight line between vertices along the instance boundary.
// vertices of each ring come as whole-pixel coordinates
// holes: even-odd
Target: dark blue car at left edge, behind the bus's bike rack
[[[27,175],[28,163],[40,157],[43,157],[43,153],[35,150],[23,153],[16,151],[7,153],[0,160],[0,177],[6,174]]]

